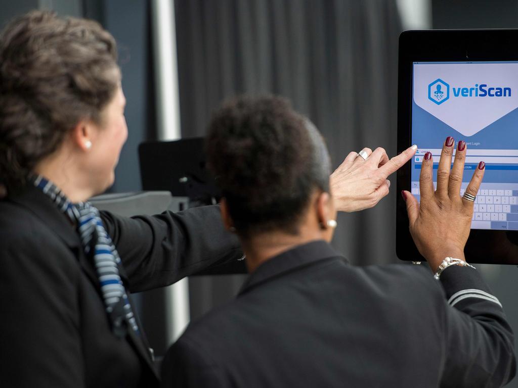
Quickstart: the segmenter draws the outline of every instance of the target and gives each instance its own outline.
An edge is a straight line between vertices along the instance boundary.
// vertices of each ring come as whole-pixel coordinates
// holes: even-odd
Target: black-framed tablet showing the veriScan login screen
[[[486,163],[466,260],[518,264],[518,30],[401,34],[398,151],[411,144],[419,149],[398,172],[398,190],[420,199],[419,175],[426,152],[433,155],[436,184],[448,136],[467,144],[461,194],[478,163]],[[398,257],[418,260],[400,198],[396,222]]]

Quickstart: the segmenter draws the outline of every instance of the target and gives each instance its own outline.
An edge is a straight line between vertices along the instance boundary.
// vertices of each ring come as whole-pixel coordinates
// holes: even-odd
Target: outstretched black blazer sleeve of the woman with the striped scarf
[[[243,256],[237,237],[223,227],[218,205],[132,218],[101,212],[101,217],[132,292],[167,286]]]

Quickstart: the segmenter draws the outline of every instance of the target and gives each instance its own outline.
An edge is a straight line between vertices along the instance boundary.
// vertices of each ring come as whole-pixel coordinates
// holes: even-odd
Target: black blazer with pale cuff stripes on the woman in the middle
[[[496,387],[515,374],[513,347],[476,270],[437,281],[417,266],[354,267],[316,241],[263,263],[237,299],[192,323],[166,354],[163,386]]]

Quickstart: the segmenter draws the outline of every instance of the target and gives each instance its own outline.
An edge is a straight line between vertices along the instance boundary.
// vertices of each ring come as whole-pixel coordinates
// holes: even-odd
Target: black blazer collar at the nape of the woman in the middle
[[[296,268],[330,258],[338,258],[347,262],[346,258],[323,240],[298,245],[295,248],[268,259],[258,266],[244,282],[239,294],[247,292],[251,288],[261,285],[272,278],[291,272]]]

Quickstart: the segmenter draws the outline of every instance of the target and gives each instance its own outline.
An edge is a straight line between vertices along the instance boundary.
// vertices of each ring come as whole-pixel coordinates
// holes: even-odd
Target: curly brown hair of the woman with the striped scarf
[[[90,20],[32,11],[0,34],[0,183],[8,190],[80,120],[98,122],[120,82],[113,37]]]

